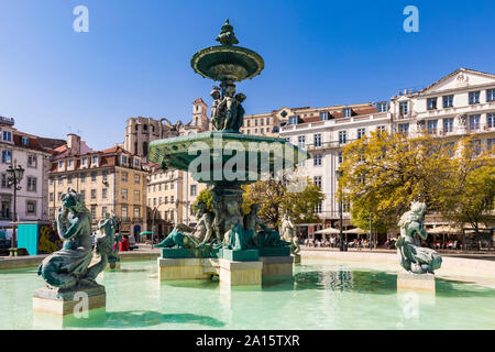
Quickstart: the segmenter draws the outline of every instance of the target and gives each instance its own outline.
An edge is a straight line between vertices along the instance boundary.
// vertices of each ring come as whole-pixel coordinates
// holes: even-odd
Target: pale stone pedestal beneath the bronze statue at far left
[[[69,289],[42,287],[33,295],[33,311],[54,316],[85,315],[85,311],[105,308],[105,286],[95,285]]]

